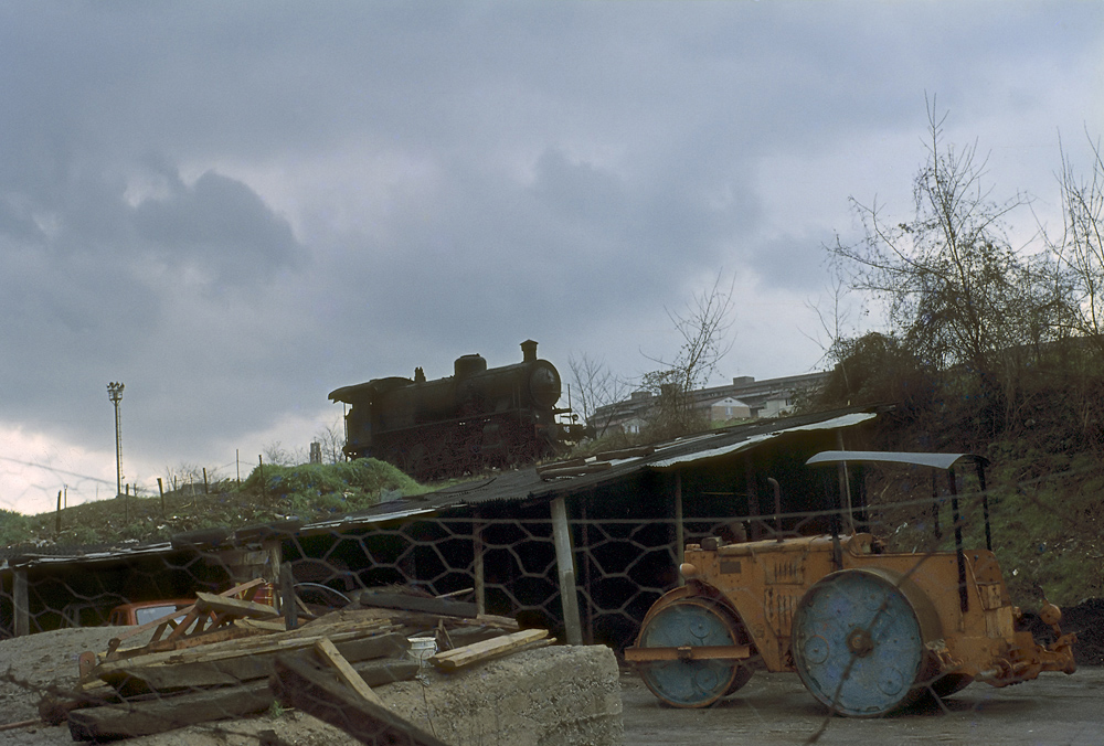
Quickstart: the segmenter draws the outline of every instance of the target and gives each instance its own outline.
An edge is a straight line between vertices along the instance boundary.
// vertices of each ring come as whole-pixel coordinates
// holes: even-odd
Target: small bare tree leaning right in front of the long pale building
[[[661,367],[644,376],[645,388],[658,394],[652,417],[654,437],[670,437],[705,424],[703,413],[694,407],[693,392],[716,372],[721,360],[732,350],[730,332],[735,277],[724,285],[719,271],[713,285],[697,294],[684,311],[667,309],[667,316],[682,339],[673,359],[645,355]]]

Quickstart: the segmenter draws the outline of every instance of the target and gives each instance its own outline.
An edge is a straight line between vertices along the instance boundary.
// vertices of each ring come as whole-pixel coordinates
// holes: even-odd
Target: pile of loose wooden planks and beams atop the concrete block
[[[344,716],[353,707],[353,721],[362,727],[371,721],[380,733],[385,723],[392,728],[388,733],[401,731],[410,738],[412,732],[403,729],[397,716],[381,720],[383,705],[373,692],[415,678],[425,664],[411,658],[408,638],[432,637],[437,653],[428,662],[450,671],[550,642],[544,630],[518,632],[511,619],[469,615],[460,608],[465,605],[448,600],[404,601],[401,594],[286,629],[270,606],[232,598],[233,590],[198,595],[188,614],[192,621],[210,620],[198,631],[193,625],[192,631],[178,633],[178,626],[162,638],[167,628],[159,627],[145,646],[124,648],[117,638],[105,653],[84,653],[78,691],[44,703],[43,720],[67,720],[75,740],[103,740],[252,715],[282,701],[323,720],[326,712],[308,707]],[[382,604],[373,606],[373,600]],[[463,614],[442,612],[456,610]],[[307,707],[305,691],[314,693]],[[326,691],[330,694],[318,694]]]

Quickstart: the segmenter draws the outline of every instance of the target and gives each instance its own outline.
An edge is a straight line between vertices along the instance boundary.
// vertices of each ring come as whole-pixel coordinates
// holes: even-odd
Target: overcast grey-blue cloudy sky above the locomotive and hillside
[[[244,477],[416,365],[646,372],[719,273],[716,381],[816,370],[925,96],[1053,227],[1102,92],[1101,2],[0,0],[0,507],[114,493],[110,381],[126,481]]]

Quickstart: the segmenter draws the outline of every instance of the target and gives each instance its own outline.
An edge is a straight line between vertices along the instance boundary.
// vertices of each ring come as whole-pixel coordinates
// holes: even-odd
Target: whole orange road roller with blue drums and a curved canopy
[[[854,531],[847,465],[879,462],[946,472],[954,551],[891,553],[880,539]],[[1076,638],[1062,633],[1057,606],[1044,601],[1039,611],[1053,642],[1041,644],[1017,630],[1022,615],[992,553],[984,458],[826,451],[807,465],[840,469],[840,515],[848,525],[827,535],[784,537],[779,531],[763,541],[711,536],[688,544],[686,585],[656,601],[625,651],[662,702],[703,707],[747,683],[753,670],[766,669],[796,671],[834,713],[872,717],[975,681],[1006,686],[1043,671],[1073,673]],[[963,547],[957,465],[977,469],[985,550]],[[781,514],[777,482],[771,481]]]

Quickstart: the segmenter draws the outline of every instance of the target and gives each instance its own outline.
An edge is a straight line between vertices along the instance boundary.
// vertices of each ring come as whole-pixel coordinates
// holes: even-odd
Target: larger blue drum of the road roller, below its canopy
[[[933,619],[923,593],[890,573],[832,573],[794,612],[794,665],[805,688],[834,712],[884,715],[925,691]]]

